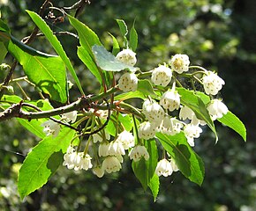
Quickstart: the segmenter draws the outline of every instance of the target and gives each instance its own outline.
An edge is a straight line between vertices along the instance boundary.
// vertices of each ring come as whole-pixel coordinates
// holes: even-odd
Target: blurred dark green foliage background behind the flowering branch
[[[70,6],[76,1],[52,2],[55,6]],[[25,10],[39,11],[43,1],[9,0],[8,4],[3,3],[0,1],[1,16],[10,25],[12,34],[18,39],[29,35],[34,25]],[[206,165],[206,178],[201,187],[180,173],[161,178],[160,194],[154,202],[152,195],[144,193],[131,174],[131,165],[105,178],[60,167],[48,185],[20,201],[16,187],[19,165],[39,140],[29,135],[17,121],[10,120],[0,124],[0,209],[255,210],[255,8],[253,0],[99,0],[92,1],[79,16],[99,34],[109,49],[109,33],[122,41],[115,18],[123,18],[130,27],[135,19],[139,33],[137,55],[143,69],[154,69],[158,63],[168,62],[171,55],[184,53],[190,56],[193,64],[218,71],[225,80],[222,95],[230,110],[245,122],[248,142],[245,144],[225,128],[218,129],[220,142],[216,145],[210,131],[201,136],[195,148]],[[74,32],[68,21],[49,25],[56,32]],[[97,84],[92,83],[93,76],[75,54],[78,40],[66,36],[60,40],[75,63],[79,77],[83,78],[82,85],[88,93],[94,92]],[[33,46],[53,53],[43,38],[36,40]],[[5,62],[11,64],[10,55]],[[1,81],[5,74],[1,72]],[[17,68],[15,74],[22,75],[21,69]],[[73,92],[73,98],[79,97],[75,90]]]

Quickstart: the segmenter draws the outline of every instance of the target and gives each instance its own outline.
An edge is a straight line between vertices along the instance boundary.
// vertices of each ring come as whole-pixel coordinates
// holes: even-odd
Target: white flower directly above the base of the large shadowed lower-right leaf
[[[162,133],[167,135],[177,135],[180,133],[182,127],[183,123],[181,121],[177,120],[176,118],[165,116],[162,120],[160,130]]]

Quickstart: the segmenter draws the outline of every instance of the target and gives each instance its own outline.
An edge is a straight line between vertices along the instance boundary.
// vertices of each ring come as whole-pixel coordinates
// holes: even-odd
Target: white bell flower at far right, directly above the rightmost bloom
[[[222,85],[225,84],[222,78],[212,71],[207,71],[206,75],[202,77],[202,82],[207,95],[216,95],[218,91],[222,90]]]

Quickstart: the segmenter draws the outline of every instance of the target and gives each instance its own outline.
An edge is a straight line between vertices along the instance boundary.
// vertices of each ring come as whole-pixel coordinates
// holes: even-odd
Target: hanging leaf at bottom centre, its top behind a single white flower
[[[154,171],[158,161],[158,154],[154,140],[147,140],[145,142],[145,147],[147,148],[149,159],[146,161],[144,158],[142,158],[138,162],[132,161],[132,170],[146,191],[147,186],[149,186],[151,179],[154,177]]]

